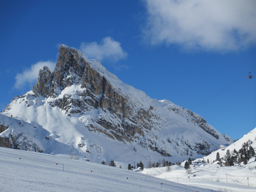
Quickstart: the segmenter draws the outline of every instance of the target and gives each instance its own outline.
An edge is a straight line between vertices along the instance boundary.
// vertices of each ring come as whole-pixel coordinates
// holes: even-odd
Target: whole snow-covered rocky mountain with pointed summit
[[[198,158],[234,141],[200,115],[151,99],[66,45],[55,70],[41,69],[33,90],[2,111],[0,129],[0,146],[97,163]]]

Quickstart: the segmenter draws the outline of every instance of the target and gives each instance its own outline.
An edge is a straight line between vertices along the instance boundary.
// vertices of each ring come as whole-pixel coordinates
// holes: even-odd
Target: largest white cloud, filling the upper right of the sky
[[[256,44],[254,0],[144,0],[152,44],[231,51]]]

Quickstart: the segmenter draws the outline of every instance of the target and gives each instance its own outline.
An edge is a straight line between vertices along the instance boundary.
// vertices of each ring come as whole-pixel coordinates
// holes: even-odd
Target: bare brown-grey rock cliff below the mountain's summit
[[[80,51],[64,45],[60,46],[54,72],[51,73],[48,67],[40,70],[33,93],[37,96],[55,98],[49,104],[52,107],[58,106],[65,110],[69,116],[82,115],[93,109],[102,109],[116,122],[111,122],[108,117],[101,115],[93,119],[100,126],[93,124],[88,126],[92,130],[102,132],[119,141],[131,142],[136,134],[143,135],[145,129],[151,130],[153,122],[152,114],[149,111],[150,106],[142,108],[140,106],[143,105],[142,103],[134,106],[135,103],[132,103],[134,101],[129,95],[124,95],[121,90],[116,90],[116,87],[90,64]],[[99,62],[97,64],[101,65]],[[75,94],[63,94],[58,97],[62,90],[79,83],[80,90]],[[101,126],[110,130],[111,134],[101,129]]]

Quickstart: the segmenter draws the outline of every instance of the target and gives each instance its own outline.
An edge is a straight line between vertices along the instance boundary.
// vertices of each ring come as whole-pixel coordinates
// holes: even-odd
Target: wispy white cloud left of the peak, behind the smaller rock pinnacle
[[[56,66],[56,62],[51,61],[39,61],[34,65],[31,65],[29,69],[25,69],[22,73],[18,73],[15,77],[15,89],[22,89],[25,86],[32,86],[37,82],[38,72],[44,66],[47,66],[52,72]]]

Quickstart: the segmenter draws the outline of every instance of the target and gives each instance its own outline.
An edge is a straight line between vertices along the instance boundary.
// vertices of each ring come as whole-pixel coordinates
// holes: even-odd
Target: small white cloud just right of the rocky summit
[[[80,50],[90,59],[99,61],[112,60],[118,61],[127,57],[127,53],[123,51],[121,43],[115,41],[111,37],[105,37],[100,44],[97,42],[85,43],[82,42]]]

